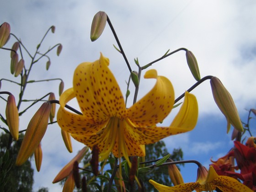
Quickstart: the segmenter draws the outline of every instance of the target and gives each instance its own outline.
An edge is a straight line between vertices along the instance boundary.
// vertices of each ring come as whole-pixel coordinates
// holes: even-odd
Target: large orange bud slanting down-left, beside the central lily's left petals
[[[28,123],[27,131],[24,135],[24,139],[21,143],[21,148],[16,159],[17,166],[26,162],[43,139],[48,126],[50,112],[51,104],[45,102]]]

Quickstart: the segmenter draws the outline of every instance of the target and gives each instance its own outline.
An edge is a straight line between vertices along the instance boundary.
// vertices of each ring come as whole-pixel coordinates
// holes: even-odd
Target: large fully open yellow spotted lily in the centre
[[[171,112],[174,90],[171,82],[158,76],[155,69],[144,78],[156,79],[147,95],[126,108],[122,92],[108,68],[109,59],[102,54],[95,62],[82,63],[76,69],[73,88],[59,98],[57,122],[60,128],[89,146],[97,145],[100,160],[110,152],[116,157],[145,156],[144,144],[152,144],[169,135],[192,130],[197,123],[196,97],[186,92],[183,105],[170,127],[156,127]],[[67,111],[64,106],[75,98],[82,115]],[[130,162],[128,160],[129,165]]]

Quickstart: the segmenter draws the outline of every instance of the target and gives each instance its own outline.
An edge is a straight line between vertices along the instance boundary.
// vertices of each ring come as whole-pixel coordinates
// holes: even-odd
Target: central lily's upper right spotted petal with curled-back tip
[[[154,126],[164,120],[174,104],[173,86],[166,77],[158,76],[155,69],[147,71],[146,79],[156,79],[155,86],[147,95],[128,109],[128,117],[137,127]]]

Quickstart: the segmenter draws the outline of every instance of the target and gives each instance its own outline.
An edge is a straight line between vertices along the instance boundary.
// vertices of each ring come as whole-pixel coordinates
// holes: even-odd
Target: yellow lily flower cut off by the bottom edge
[[[210,166],[208,173],[205,167],[199,167],[196,182],[182,183],[173,187],[161,185],[153,180],[149,180],[149,182],[160,192],[192,192],[193,190],[196,192],[213,192],[216,187],[223,192],[253,192],[232,177],[219,176],[213,166]]]

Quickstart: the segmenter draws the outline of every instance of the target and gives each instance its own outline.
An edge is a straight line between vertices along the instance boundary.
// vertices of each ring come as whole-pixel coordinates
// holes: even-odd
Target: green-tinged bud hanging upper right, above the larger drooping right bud
[[[200,72],[199,72],[199,68],[198,68],[198,64],[197,64],[197,59],[194,56],[194,54],[191,51],[186,51],[186,58],[187,58],[187,64],[188,67],[193,75],[193,77],[195,78],[195,80],[200,80]]]

